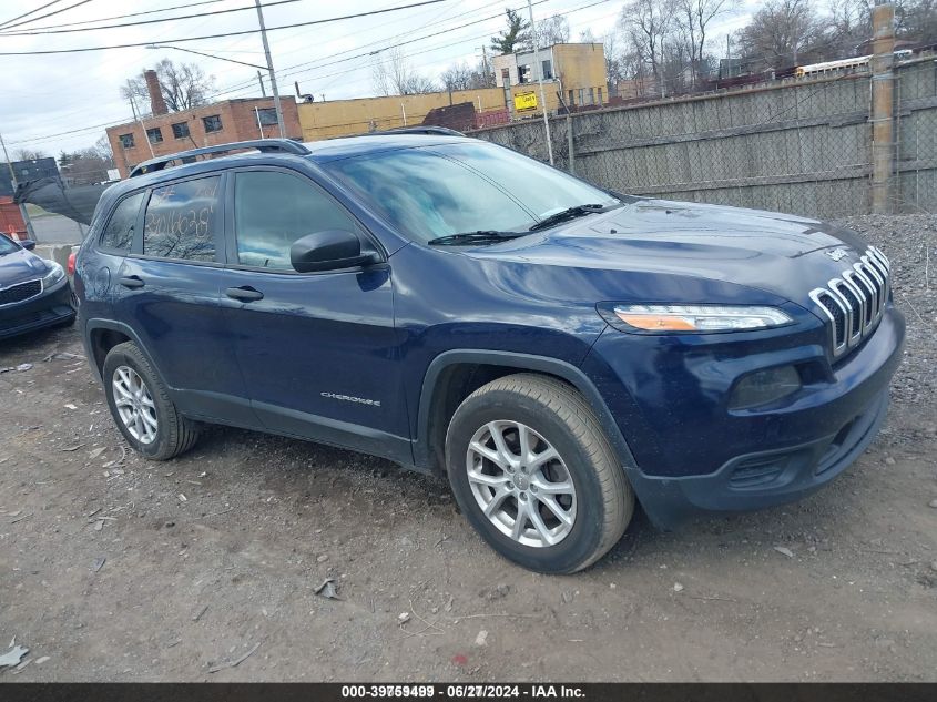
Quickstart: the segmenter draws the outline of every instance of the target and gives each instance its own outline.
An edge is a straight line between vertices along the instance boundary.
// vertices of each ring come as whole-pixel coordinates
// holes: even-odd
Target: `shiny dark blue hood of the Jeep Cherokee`
[[[837,248],[848,256],[834,261],[829,254]],[[865,248],[855,233],[816,220],[641,200],[470,255],[702,278],[809,305],[809,291],[839,275]]]

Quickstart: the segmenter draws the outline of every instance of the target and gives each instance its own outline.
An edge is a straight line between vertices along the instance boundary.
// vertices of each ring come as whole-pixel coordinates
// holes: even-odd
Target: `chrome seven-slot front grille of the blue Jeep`
[[[839,277],[811,291],[811,299],[828,319],[834,356],[856,346],[878,325],[888,304],[889,271],[885,254],[869,246]]]

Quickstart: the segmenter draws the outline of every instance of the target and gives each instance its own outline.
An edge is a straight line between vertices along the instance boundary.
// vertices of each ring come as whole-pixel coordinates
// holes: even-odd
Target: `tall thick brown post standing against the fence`
[[[888,213],[895,167],[895,6],[875,6],[872,28],[872,211]]]

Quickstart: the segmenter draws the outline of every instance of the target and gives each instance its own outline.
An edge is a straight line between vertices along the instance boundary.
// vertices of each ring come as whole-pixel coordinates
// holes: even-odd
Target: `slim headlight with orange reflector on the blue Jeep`
[[[766,329],[793,322],[776,307],[751,305],[612,305],[600,312],[619,328],[623,322],[624,330],[642,332],[733,332]]]

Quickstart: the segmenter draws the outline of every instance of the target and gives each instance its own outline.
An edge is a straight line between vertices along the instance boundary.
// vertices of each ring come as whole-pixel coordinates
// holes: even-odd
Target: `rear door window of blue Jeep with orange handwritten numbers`
[[[214,261],[220,233],[221,176],[154,187],[143,220],[143,254],[182,261]]]

